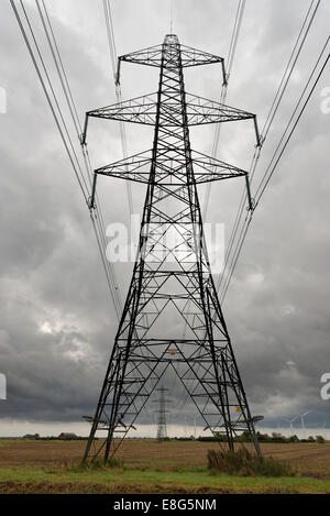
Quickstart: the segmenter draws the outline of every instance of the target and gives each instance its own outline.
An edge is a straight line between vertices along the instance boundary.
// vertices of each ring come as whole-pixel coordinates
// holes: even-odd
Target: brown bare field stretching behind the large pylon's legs
[[[24,441],[1,443],[0,466],[73,464],[81,460],[86,441]],[[207,451],[217,444],[199,441],[156,442],[153,440],[125,440],[118,459],[127,465],[157,466],[158,469],[205,468]],[[330,444],[317,443],[264,443],[264,455],[292,464],[306,476],[330,480]]]

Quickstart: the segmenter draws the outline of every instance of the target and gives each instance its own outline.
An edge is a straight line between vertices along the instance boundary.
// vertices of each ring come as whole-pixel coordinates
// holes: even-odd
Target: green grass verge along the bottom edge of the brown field
[[[0,493],[330,493],[330,481],[213,475],[205,469],[0,468]]]

